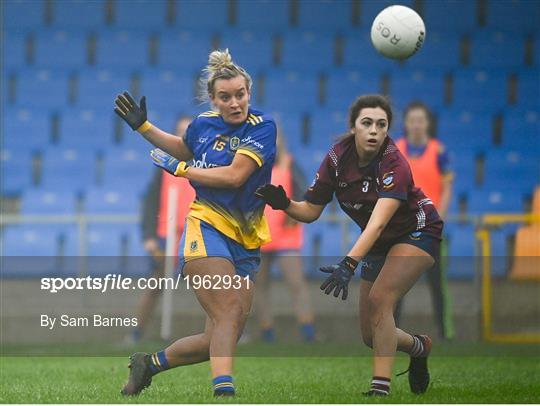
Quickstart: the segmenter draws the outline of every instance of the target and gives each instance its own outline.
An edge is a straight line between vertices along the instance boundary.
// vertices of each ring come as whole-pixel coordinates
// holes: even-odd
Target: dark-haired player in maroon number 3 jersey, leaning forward
[[[334,194],[362,234],[337,264],[321,268],[331,275],[326,294],[347,298],[360,264],[360,324],[364,343],[373,348],[373,380],[366,395],[388,395],[396,350],[411,357],[409,384],[423,393],[429,384],[431,340],[396,328],[394,306],[437,260],[443,223],[431,200],[414,186],[405,158],[388,136],[392,110],[384,96],[359,97],[349,112],[350,134],[333,145],[301,202],[281,186],[265,185],[256,194],[274,209],[310,223]]]

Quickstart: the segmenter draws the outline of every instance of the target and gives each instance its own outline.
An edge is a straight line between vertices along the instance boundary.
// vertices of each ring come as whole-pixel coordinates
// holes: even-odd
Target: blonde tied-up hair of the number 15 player
[[[239,65],[233,62],[228,49],[212,51],[208,56],[208,65],[203,69],[201,78],[202,101],[208,101],[214,96],[214,85],[218,79],[232,79],[237,76],[246,79],[246,87],[251,90],[251,76]]]

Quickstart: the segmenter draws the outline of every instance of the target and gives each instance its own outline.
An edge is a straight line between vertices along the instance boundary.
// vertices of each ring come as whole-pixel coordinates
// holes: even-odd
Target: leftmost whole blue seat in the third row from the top
[[[21,107],[60,109],[68,104],[68,72],[28,69],[17,75],[16,102]]]

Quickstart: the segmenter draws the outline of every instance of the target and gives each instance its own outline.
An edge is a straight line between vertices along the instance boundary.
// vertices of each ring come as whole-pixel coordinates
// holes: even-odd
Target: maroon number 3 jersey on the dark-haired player
[[[362,230],[380,197],[402,201],[376,245],[389,243],[415,231],[441,238],[443,222],[435,206],[414,186],[409,164],[390,137],[383,142],[373,161],[362,168],[358,167],[354,137],[333,145],[305,199],[325,205],[332,200],[334,193],[343,211]]]

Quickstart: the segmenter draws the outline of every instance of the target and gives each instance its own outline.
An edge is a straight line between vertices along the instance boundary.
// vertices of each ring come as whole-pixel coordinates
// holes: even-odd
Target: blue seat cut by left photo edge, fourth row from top
[[[39,150],[50,141],[51,118],[38,109],[5,109],[3,145],[17,150]]]

